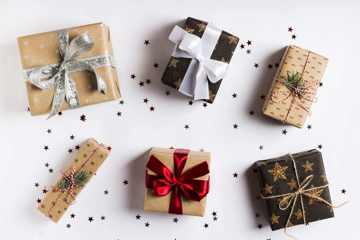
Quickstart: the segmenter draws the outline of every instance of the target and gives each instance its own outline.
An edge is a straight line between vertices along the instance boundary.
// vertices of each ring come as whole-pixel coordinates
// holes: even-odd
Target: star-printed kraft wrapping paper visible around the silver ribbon
[[[69,43],[76,36],[85,33],[86,31],[89,31],[90,37],[94,42],[94,47],[75,59],[102,54],[114,56],[109,27],[104,23],[94,23],[68,28]],[[63,58],[59,53],[56,31],[18,37],[18,45],[22,69],[40,67],[46,64],[63,61]],[[76,89],[81,107],[115,100],[121,97],[116,68],[109,65],[95,68],[95,71],[104,79],[107,85],[107,94],[104,94],[103,92],[97,93],[98,85],[95,73],[86,70],[70,73],[71,77],[76,82]],[[42,78],[42,80],[45,79],[46,78]],[[30,81],[26,81],[25,85],[31,116],[48,114],[53,104],[54,87],[47,91],[43,91],[39,87],[33,85]],[[60,111],[67,109],[68,105],[66,100],[64,100]]]

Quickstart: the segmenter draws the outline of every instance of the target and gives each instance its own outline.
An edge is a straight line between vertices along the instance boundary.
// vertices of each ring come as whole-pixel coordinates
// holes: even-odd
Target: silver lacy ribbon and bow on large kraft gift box
[[[69,109],[81,107],[76,90],[76,83],[73,81],[70,73],[84,70],[94,72],[98,82],[98,93],[103,91],[104,94],[106,94],[106,83],[94,68],[109,65],[116,67],[114,57],[110,54],[90,56],[75,60],[75,58],[87,53],[93,48],[94,42],[89,32],[76,36],[70,44],[67,28],[57,30],[56,37],[63,62],[23,70],[24,80],[30,81],[40,89],[46,91],[55,86],[53,105],[47,119],[59,112],[65,98]],[[41,81],[41,78],[45,77],[48,77],[48,79]]]

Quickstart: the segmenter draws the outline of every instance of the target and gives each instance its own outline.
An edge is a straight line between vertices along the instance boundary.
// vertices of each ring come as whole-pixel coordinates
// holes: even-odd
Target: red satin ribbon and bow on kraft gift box
[[[202,162],[189,169],[183,175],[188,153],[187,149],[175,149],[174,167],[172,173],[159,159],[151,155],[146,167],[157,175],[150,175],[146,172],[145,185],[152,188],[157,196],[165,196],[173,191],[170,200],[169,213],[183,214],[180,192],[193,201],[201,201],[210,189],[209,180],[198,180],[193,178],[202,177],[210,173],[207,162]]]

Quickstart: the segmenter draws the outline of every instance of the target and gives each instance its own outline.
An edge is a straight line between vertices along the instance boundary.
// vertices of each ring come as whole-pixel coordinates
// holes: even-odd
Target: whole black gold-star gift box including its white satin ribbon
[[[174,28],[169,39],[176,46],[161,82],[195,100],[213,103],[239,38],[189,17],[183,29]]]

